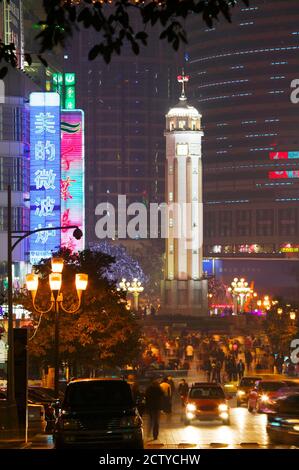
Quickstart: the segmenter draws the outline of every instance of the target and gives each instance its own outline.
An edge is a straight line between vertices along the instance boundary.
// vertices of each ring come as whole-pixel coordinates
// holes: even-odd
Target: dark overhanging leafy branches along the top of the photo
[[[0,4],[3,0],[0,0]],[[249,0],[239,3],[249,5]],[[238,0],[43,0],[45,19],[39,22],[40,54],[52,51],[57,46],[65,47],[66,41],[82,25],[98,33],[98,43],[90,49],[88,57],[94,60],[101,56],[107,63],[115,54],[121,54],[128,42],[134,54],[139,54],[140,46],[146,46],[149,33],[146,29],[160,25],[160,39],[167,40],[178,50],[187,42],[187,34],[182,22],[189,15],[198,15],[209,27],[219,17],[231,22],[232,8]],[[133,26],[134,18],[139,26]],[[42,55],[38,58],[47,65]],[[30,64],[31,56],[25,59]],[[0,43],[0,62],[4,60],[14,67],[17,63],[14,45]],[[0,69],[0,78],[7,73],[7,67]]]

